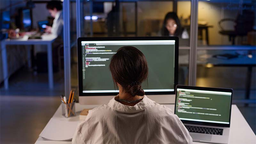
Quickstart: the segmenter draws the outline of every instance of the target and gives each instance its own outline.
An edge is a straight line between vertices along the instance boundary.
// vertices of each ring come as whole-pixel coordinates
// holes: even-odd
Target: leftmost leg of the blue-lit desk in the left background
[[[7,54],[6,54],[6,45],[2,43],[2,64],[3,64],[3,74],[4,74],[4,89],[8,90],[9,84],[8,84],[8,64],[7,64]]]

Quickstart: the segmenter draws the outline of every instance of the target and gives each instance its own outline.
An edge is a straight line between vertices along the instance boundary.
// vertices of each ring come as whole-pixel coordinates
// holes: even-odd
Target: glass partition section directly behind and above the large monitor
[[[180,37],[179,84],[188,84],[190,1],[99,0],[80,3],[82,37],[163,36],[165,16],[175,12],[181,29],[174,35]]]

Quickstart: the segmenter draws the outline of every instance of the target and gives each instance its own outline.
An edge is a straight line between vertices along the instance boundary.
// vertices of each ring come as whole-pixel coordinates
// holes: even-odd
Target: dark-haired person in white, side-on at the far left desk
[[[54,20],[52,27],[46,26],[45,32],[63,37],[63,17],[61,2],[52,0],[47,3],[46,8],[51,13],[51,16],[54,18]]]

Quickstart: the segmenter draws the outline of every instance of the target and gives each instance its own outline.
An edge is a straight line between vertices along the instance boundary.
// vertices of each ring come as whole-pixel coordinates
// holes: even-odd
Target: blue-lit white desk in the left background
[[[4,74],[4,88],[8,89],[8,63],[6,55],[6,45],[47,45],[47,60],[48,60],[48,83],[49,88],[53,89],[53,72],[52,72],[52,42],[57,38],[54,35],[43,35],[42,39],[28,39],[24,36],[20,39],[4,39],[1,41],[3,74]],[[28,50],[28,60],[30,60],[30,49]],[[29,65],[30,62],[29,62]]]

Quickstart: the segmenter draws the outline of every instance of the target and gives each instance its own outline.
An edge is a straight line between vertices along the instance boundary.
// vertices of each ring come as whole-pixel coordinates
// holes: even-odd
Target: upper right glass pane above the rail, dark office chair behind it
[[[255,0],[199,1],[198,45],[255,45],[255,4]]]

